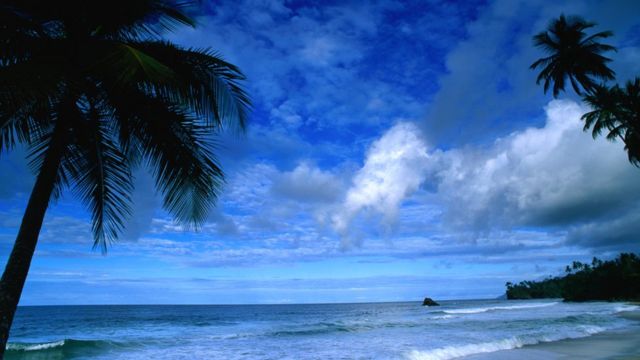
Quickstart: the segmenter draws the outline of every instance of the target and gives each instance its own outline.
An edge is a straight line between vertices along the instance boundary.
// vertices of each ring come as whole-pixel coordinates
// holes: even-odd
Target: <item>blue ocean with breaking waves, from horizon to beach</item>
[[[6,359],[452,359],[637,326],[624,303],[29,306]]]

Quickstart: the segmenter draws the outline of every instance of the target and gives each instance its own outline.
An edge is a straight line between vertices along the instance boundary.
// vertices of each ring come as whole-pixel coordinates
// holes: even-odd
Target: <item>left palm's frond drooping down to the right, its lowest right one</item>
[[[111,96],[120,131],[151,167],[163,206],[179,222],[198,228],[224,182],[213,155],[211,128],[184,109],[145,94]]]

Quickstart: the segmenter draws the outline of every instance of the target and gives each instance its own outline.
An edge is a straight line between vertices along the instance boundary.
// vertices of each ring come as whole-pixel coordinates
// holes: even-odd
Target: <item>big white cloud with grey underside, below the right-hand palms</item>
[[[477,231],[553,229],[634,211],[640,202],[629,194],[640,192],[638,170],[620,143],[594,141],[581,131],[586,111],[571,101],[552,101],[543,127],[485,149],[441,152],[437,192],[446,221]]]

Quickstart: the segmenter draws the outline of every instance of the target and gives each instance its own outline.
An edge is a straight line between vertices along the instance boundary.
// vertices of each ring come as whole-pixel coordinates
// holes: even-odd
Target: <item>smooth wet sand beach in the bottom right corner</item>
[[[637,303],[629,303],[638,305]],[[640,359],[640,310],[624,311],[616,314],[634,321],[628,327],[603,331],[576,339],[543,342],[525,345],[521,348],[474,354],[465,360],[534,360],[534,359]]]

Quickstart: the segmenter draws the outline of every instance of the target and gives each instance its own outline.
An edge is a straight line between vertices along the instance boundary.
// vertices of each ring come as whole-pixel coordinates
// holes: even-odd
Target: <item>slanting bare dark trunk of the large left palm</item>
[[[61,124],[57,124],[44,163],[31,191],[16,242],[0,280],[0,359],[3,357],[9,339],[13,316],[36,250],[38,235],[49,206],[65,145],[64,128]]]

